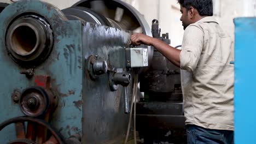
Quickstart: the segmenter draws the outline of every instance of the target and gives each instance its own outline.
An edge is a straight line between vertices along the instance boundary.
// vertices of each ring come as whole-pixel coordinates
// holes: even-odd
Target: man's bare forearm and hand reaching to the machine
[[[138,33],[131,36],[131,44],[136,46],[141,44],[152,45],[170,62],[180,68],[181,59],[179,58],[179,55],[181,54],[181,50],[175,49],[174,47],[167,45],[166,43],[164,43],[164,41]]]

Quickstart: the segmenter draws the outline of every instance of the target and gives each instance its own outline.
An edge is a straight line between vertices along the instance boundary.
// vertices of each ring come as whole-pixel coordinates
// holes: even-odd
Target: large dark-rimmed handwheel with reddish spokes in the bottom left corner
[[[25,132],[25,122],[27,122],[27,128]],[[62,144],[65,143],[62,136],[49,124],[42,119],[31,117],[15,117],[8,119],[0,124],[0,131],[7,127],[9,124],[15,124],[16,140],[9,142],[8,144]],[[50,132],[46,134],[47,131]],[[48,138],[49,137],[49,138]],[[46,139],[48,138],[48,139]]]

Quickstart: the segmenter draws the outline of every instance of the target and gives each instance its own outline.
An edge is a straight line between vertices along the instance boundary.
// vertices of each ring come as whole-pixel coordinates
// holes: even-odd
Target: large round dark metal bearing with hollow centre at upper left
[[[15,62],[38,65],[53,48],[53,32],[43,18],[36,15],[21,16],[9,26],[5,44]]]

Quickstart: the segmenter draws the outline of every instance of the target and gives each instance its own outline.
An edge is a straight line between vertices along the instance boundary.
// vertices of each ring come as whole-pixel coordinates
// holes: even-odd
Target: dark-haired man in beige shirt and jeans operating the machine
[[[213,16],[212,0],[178,0],[182,50],[144,34],[133,45],[152,45],[182,71],[188,143],[234,143],[233,44]],[[186,81],[186,82],[184,82]]]

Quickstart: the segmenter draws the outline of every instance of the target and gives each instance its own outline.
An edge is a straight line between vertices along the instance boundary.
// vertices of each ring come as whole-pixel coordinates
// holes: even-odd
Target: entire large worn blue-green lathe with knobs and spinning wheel
[[[137,106],[142,138],[152,128],[145,129],[147,126],[154,123],[153,128],[161,127],[158,121],[160,125],[171,123],[168,128],[183,129],[179,70],[154,47],[130,48],[131,31],[152,36],[146,20],[130,5],[119,0],[83,0],[59,10],[48,3],[25,0],[6,7],[0,19],[1,143],[27,137],[38,143],[47,139],[122,143],[129,121],[127,100],[131,103],[137,74],[144,83],[142,91],[152,93],[153,98]],[[170,42],[166,35],[154,37]],[[161,103],[152,103],[160,91],[164,92],[160,97],[165,94]],[[51,106],[47,107],[42,97],[49,97],[46,102]],[[168,103],[173,100],[175,103]],[[39,109],[42,113],[32,111],[38,101],[45,109]],[[29,117],[20,117],[24,115]],[[33,129],[36,124],[39,126]],[[44,136],[42,125],[51,133]],[[22,132],[24,128],[27,132]]]

